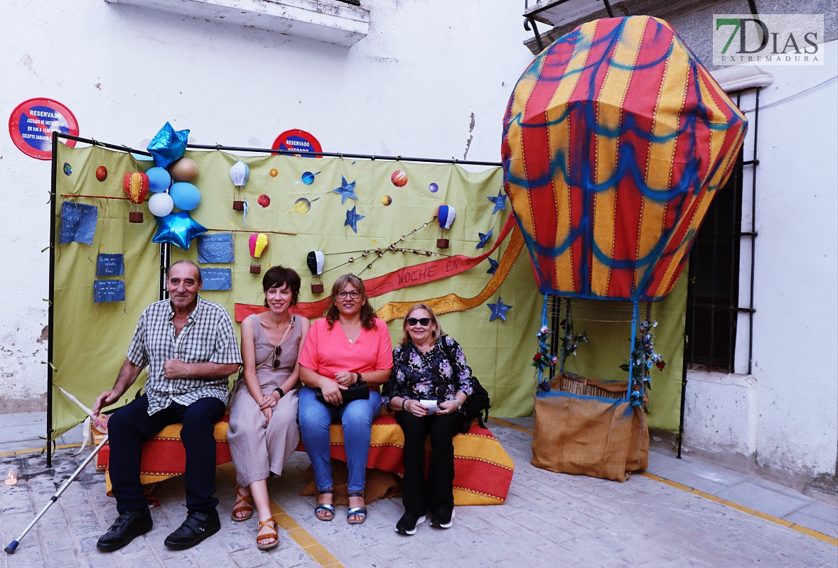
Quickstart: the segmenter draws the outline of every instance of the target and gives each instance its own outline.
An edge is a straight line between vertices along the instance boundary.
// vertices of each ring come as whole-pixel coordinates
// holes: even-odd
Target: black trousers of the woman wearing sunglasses
[[[396,412],[396,421],[405,432],[405,478],[401,500],[405,513],[421,517],[430,509],[454,506],[454,444],[465,422],[463,414],[432,414],[417,417]],[[425,438],[431,435],[431,463],[425,478]]]

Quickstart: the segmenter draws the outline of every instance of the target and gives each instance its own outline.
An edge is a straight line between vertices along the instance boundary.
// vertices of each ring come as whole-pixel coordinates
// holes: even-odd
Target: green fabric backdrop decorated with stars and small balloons
[[[275,264],[296,269],[303,278],[300,301],[308,302],[325,297],[313,296],[310,292],[311,273],[306,267],[306,255],[318,249],[327,253],[325,269],[329,270],[346,262],[358,253],[344,253],[370,248],[385,248],[407,235],[414,228],[431,221],[441,203],[452,205],[457,210],[453,227],[444,236],[451,241],[450,248],[436,248],[437,238],[442,231],[437,223],[423,228],[414,237],[406,237],[397,246],[419,248],[446,254],[477,256],[488,248],[478,250],[478,232],[486,233],[494,228],[499,233],[504,220],[510,214],[506,210],[492,214],[494,204],[487,197],[498,194],[503,183],[499,168],[480,173],[470,173],[461,166],[428,165],[387,161],[351,161],[349,159],[317,159],[292,156],[246,156],[251,168],[246,186],[246,200],[251,204],[247,213],[247,227],[241,212],[232,209],[233,183],[230,180],[230,166],[239,159],[221,151],[189,152],[190,158],[198,163],[199,177],[194,184],[199,187],[202,201],[193,212],[194,219],[213,229],[211,232],[231,230],[246,231],[235,235],[235,264],[207,264],[204,268],[232,269],[230,291],[205,291],[204,298],[225,305],[232,315],[234,304],[261,304],[261,275],[250,274],[250,253],[247,238],[251,233],[279,231],[292,235],[268,233],[269,245],[262,254],[262,274]],[[70,164],[72,174],[62,171],[64,163]],[[60,194],[82,194],[92,196],[124,197],[122,177],[134,169],[145,170],[151,162],[135,162],[122,152],[108,151],[100,147],[69,148],[59,145],[57,190]],[[106,166],[108,177],[105,182],[96,180],[98,166]],[[270,171],[278,175],[272,177]],[[391,173],[396,169],[406,171],[408,182],[405,187],[391,183]],[[303,171],[319,172],[312,185],[299,182]],[[348,199],[344,204],[340,196],[332,193],[340,186],[341,175],[349,182],[356,182],[358,200]],[[439,191],[428,190],[431,183],[437,183]],[[268,207],[260,207],[260,195],[271,199]],[[381,199],[391,197],[391,205],[385,206]],[[298,197],[312,200],[307,214],[288,212]],[[59,197],[56,211],[61,202],[70,197]],[[73,197],[77,202],[99,207],[94,243],[88,247],[82,243],[56,245],[55,261],[55,304],[53,330],[54,385],[62,386],[88,406],[96,396],[110,388],[116,379],[125,358],[128,343],[142,310],[158,299],[159,248],[151,243],[156,230],[154,217],[148,213],[147,204],[140,205],[146,213],[145,223],[127,223],[128,203],[93,197]],[[317,199],[317,201],[313,201]],[[353,206],[365,218],[358,222],[358,233],[344,227],[346,211]],[[56,217],[56,230],[60,219]],[[499,260],[506,249],[509,238],[492,258]],[[494,244],[489,240],[487,247]],[[94,304],[93,281],[96,279],[96,253],[124,253],[126,302]],[[196,243],[188,251],[172,247],[172,262],[179,258],[197,260]],[[340,274],[353,272],[369,279],[411,264],[426,262],[431,258],[410,253],[385,253],[370,269],[365,269],[369,259],[346,264],[323,274],[326,291]],[[390,294],[372,299],[376,309],[388,301],[421,301],[456,292],[463,298],[478,294],[489,282],[486,273],[489,262],[484,261],[473,269],[448,279],[437,280],[399,289]],[[685,280],[682,278],[682,280]],[[661,325],[658,345],[668,363],[664,373],[655,371],[651,395],[652,414],[650,427],[676,431],[680,407],[680,361],[683,343],[683,305],[685,286],[679,287],[670,297],[655,306],[655,313]],[[511,304],[507,320],[489,322],[489,309],[485,304],[473,310],[445,314],[440,322],[443,329],[453,335],[462,345],[468,363],[475,376],[489,391],[492,398],[492,415],[498,417],[527,416],[533,408],[534,368],[530,366],[531,355],[537,349],[535,333],[541,325],[543,297],[538,294],[530,269],[529,258],[522,253],[490,301],[501,296],[504,304]],[[401,338],[401,320],[390,322],[394,345]],[[235,325],[238,332],[239,325]],[[577,325],[577,331],[583,327]],[[662,340],[665,335],[668,340]],[[588,335],[592,343],[578,351],[577,365],[590,376],[600,378],[624,378],[621,371],[611,368],[611,359],[616,363],[628,358],[629,341],[623,330],[590,328]],[[673,351],[670,351],[673,350]],[[608,354],[608,356],[605,356]],[[587,360],[590,357],[590,361]],[[590,371],[585,371],[590,366]],[[568,369],[573,371],[573,364]],[[659,377],[660,375],[660,377]],[[140,386],[144,377],[137,382]],[[675,383],[677,382],[677,388]],[[660,386],[660,387],[659,387]],[[133,390],[125,397],[133,397]],[[81,422],[84,414],[68,402],[57,390],[53,392],[54,436],[59,436],[70,427]]]

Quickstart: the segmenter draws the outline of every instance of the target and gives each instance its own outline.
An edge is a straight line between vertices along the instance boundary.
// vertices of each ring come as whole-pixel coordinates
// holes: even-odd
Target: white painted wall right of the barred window
[[[742,374],[691,372],[686,397],[685,449],[749,461],[795,484],[835,475],[838,447],[838,80],[785,100],[838,74],[838,42],[823,47],[823,67],[763,68],[775,80],[759,97],[752,373],[742,314]],[[743,97],[742,109],[754,102]],[[745,148],[749,160],[753,126]],[[751,219],[745,169],[743,231]],[[743,239],[742,306],[750,258]]]

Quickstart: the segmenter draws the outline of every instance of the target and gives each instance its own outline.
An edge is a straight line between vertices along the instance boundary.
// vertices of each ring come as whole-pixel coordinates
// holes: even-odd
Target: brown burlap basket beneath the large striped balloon
[[[628,398],[591,397],[560,390],[535,393],[532,463],[556,473],[589,475],[623,482],[649,463],[649,429],[640,407]],[[612,392],[625,382],[595,381],[597,388]],[[588,385],[595,385],[591,379]],[[609,384],[611,383],[611,384]]]

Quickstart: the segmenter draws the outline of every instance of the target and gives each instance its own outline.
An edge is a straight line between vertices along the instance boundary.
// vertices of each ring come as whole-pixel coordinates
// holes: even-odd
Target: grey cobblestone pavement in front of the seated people
[[[515,460],[509,498],[503,505],[458,508],[449,530],[426,524],[415,536],[397,535],[393,529],[401,516],[401,499],[370,504],[364,525],[347,525],[342,507],[333,522],[319,521],[313,498],[299,495],[308,458],[295,453],[282,478],[270,480],[269,488],[272,499],[301,527],[293,530],[296,540],[281,531],[277,549],[257,550],[256,519],[230,520],[235,482],[219,470],[218,535],[192,550],[163,546],[165,536],[185,516],[183,480],[174,478],[154,490],[161,505],[152,509],[153,530],[122,550],[102,554],[96,551],[96,539],[116,516],[116,507],[105,495],[104,475],[91,467],[70,485],[15,555],[2,555],[3,567],[291,567],[328,565],[335,558],[347,568],[838,566],[835,545],[653,479],[635,475],[618,484],[534,468],[528,434],[496,422],[490,427]],[[14,464],[20,473],[17,485],[0,486],[4,545],[17,538],[80,463],[81,457],[70,455],[74,451],[59,450],[52,470],[45,468],[38,453],[0,458],[0,471]]]

